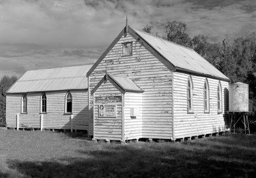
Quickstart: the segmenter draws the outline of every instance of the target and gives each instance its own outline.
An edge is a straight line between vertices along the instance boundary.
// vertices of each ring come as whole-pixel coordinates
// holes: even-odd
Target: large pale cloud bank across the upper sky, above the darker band
[[[124,27],[126,13],[129,23],[135,27],[153,24],[163,31],[163,24],[168,20],[178,20],[188,24],[191,35],[200,32],[219,38],[211,33],[223,35],[223,31],[230,29],[230,33],[234,33],[250,24],[255,5],[253,0],[2,1],[0,40],[2,43],[103,47]],[[237,26],[237,22],[241,24]]]

